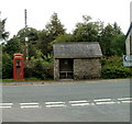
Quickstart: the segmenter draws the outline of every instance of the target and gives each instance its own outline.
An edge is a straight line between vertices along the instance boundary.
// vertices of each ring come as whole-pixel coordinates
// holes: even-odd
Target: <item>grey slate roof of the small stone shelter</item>
[[[89,58],[102,56],[98,42],[55,43],[53,50],[55,58]]]

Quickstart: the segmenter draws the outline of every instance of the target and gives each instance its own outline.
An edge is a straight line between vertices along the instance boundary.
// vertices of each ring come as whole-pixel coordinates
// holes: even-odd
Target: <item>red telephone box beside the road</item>
[[[13,79],[22,80],[24,78],[24,58],[22,54],[13,55]]]

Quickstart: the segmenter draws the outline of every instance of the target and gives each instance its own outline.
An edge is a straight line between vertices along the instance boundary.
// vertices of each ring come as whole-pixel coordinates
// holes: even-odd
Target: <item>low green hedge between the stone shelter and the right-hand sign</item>
[[[114,79],[114,78],[130,78],[132,77],[132,68],[123,67],[122,57],[113,56],[101,59],[102,69],[101,78]]]

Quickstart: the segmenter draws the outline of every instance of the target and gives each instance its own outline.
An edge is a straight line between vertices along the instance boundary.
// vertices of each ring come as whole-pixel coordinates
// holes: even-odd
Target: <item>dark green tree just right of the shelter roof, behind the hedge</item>
[[[117,23],[108,24],[102,30],[100,45],[105,56],[122,55],[124,53],[124,34]]]

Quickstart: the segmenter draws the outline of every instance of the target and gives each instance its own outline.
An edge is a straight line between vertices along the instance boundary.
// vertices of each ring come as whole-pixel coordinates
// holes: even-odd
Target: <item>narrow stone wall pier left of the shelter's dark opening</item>
[[[54,59],[54,79],[59,79],[59,59]]]

